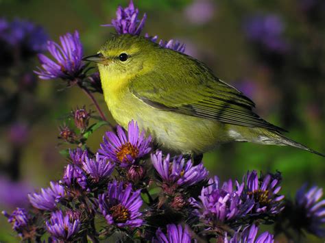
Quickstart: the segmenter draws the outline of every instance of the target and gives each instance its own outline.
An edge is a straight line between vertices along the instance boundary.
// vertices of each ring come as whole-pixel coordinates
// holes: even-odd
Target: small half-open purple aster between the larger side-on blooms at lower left
[[[74,192],[75,190],[79,191],[79,189],[88,191],[87,177],[78,166],[68,164],[65,167],[62,183]]]

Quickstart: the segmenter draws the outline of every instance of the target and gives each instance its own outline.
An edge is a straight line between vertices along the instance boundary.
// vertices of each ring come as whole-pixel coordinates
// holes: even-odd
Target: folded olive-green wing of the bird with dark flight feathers
[[[134,77],[130,91],[141,101],[160,110],[232,125],[285,131],[252,112],[253,101],[215,77],[201,62],[187,57],[187,60],[178,60],[177,65],[179,68],[174,66],[170,69],[173,72],[168,72],[165,67],[166,70],[154,69],[141,77]]]

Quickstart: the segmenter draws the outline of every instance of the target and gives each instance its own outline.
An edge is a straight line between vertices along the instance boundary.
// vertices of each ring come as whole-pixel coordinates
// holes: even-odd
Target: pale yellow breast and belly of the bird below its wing
[[[119,99],[106,96],[113,118],[124,128],[130,120],[136,120],[141,130],[151,136],[167,152],[204,153],[221,142],[229,142],[227,125],[213,120],[196,118],[158,110],[125,94]]]

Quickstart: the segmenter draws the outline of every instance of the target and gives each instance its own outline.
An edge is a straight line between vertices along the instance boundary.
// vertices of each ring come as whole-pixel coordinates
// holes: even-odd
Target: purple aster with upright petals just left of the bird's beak
[[[42,68],[34,71],[40,79],[69,79],[73,80],[82,75],[84,63],[82,62],[82,43],[79,33],[67,33],[60,36],[61,46],[53,41],[47,42],[47,49],[54,57],[56,62],[49,57],[38,54]]]

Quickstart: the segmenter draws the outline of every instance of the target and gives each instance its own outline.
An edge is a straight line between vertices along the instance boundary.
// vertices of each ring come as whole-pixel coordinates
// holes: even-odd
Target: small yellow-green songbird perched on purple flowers
[[[95,54],[104,99],[127,129],[136,120],[168,153],[201,157],[227,142],[293,146],[324,157],[283,135],[254,111],[254,102],[203,62],[143,36],[114,35]]]

